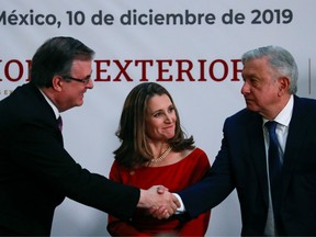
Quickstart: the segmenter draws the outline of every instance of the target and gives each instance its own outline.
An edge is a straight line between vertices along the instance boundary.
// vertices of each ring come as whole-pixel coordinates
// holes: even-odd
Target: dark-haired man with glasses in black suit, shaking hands
[[[65,196],[125,219],[136,206],[162,206],[165,217],[177,208],[170,193],[114,183],[65,150],[57,119],[93,88],[93,56],[78,40],[50,38],[32,59],[31,82],[0,102],[0,235],[50,235]]]

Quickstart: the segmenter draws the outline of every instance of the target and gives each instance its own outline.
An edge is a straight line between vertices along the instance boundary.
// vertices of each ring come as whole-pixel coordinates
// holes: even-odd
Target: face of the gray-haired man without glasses
[[[242,69],[245,97],[247,109],[258,112],[264,117],[275,116],[281,101],[280,90],[283,88],[282,78],[271,68],[267,58],[247,61]]]

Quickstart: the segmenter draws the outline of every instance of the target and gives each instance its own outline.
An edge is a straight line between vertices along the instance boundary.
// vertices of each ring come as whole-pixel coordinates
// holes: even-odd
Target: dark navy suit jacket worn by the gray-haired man
[[[237,190],[241,235],[263,235],[268,178],[262,117],[242,110],[225,121],[222,147],[207,177],[180,192],[191,217]],[[316,101],[294,97],[284,153],[281,218],[283,234],[316,236]]]

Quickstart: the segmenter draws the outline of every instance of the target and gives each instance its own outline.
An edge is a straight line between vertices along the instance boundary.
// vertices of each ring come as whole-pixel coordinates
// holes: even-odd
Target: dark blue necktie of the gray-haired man
[[[278,229],[280,223],[280,204],[281,204],[281,172],[282,172],[282,163],[279,154],[279,142],[275,134],[276,127],[275,121],[269,121],[264,124],[264,126],[269,131],[269,177],[270,177],[270,190],[273,205],[273,214],[275,221],[275,227]]]

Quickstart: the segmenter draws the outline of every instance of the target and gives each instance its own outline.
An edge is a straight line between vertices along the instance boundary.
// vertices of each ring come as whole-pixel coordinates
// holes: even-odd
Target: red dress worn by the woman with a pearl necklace
[[[110,179],[140,189],[162,184],[170,192],[178,192],[201,180],[210,167],[206,154],[202,149],[195,148],[179,162],[163,167],[142,167],[128,170],[114,161],[110,171]],[[166,233],[173,233],[177,236],[204,236],[210,215],[211,211],[190,222],[180,224],[174,215],[169,219],[157,219],[149,216],[145,210],[137,208],[129,222],[109,215],[108,230],[113,236],[153,236]]]

